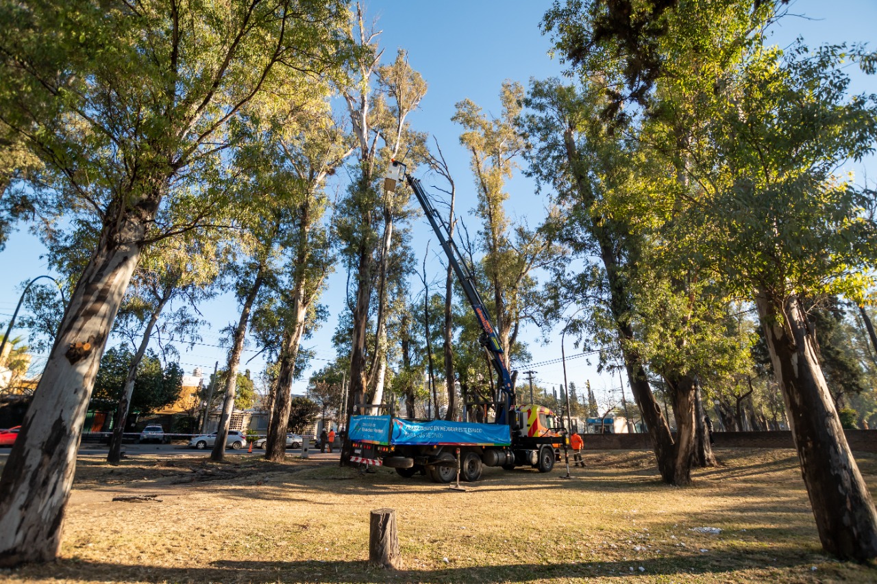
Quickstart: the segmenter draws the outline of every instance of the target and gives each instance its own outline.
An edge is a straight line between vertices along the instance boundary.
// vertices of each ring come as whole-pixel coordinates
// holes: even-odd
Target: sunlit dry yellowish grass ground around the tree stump
[[[877,581],[874,568],[820,551],[794,452],[719,455],[723,466],[697,471],[695,488],[661,484],[650,452],[588,452],[572,481],[485,469],[466,493],[313,459],[81,460],[61,559],[0,580]],[[877,485],[877,457],[859,464]],[[111,502],[146,494],[162,502]],[[396,573],[366,561],[368,511],[381,507],[396,509]]]

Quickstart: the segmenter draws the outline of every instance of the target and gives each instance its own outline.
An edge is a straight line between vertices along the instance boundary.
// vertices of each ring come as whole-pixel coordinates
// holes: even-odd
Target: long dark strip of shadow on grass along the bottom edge
[[[807,566],[804,558],[780,559],[772,568]],[[640,570],[642,567],[642,570]],[[732,573],[742,566],[738,559],[722,556],[681,554],[637,561],[582,561],[558,564],[510,564],[502,566],[460,566],[439,569],[390,571],[370,566],[366,561],[232,561],[217,560],[204,567],[170,567],[114,564],[89,560],[61,560],[51,566],[25,566],[18,575],[31,581],[103,580],[148,582],[518,582],[542,579],[628,578],[631,575],[690,577],[696,574]],[[767,566],[766,566],[767,567]],[[877,574],[875,574],[877,575]]]

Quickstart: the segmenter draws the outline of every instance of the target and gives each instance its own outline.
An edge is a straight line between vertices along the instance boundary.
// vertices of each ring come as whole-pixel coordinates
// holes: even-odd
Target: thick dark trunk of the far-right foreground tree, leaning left
[[[756,305],[823,548],[839,558],[877,557],[877,513],[846,443],[798,299],[759,292]]]

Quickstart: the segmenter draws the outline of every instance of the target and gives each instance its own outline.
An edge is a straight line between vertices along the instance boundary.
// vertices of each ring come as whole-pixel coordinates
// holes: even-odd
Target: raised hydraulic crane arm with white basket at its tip
[[[454,243],[453,238],[451,238],[447,225],[439,217],[439,212],[432,206],[429,197],[426,196],[423,185],[418,179],[405,172],[405,170],[406,167],[402,162],[392,160],[384,180],[384,190],[389,192],[395,191],[396,183],[404,179],[408,182],[411,190],[414,191],[414,196],[417,196],[417,202],[423,208],[424,215],[426,215],[432,226],[432,231],[435,231],[436,237],[439,238],[439,243],[442,249],[445,250],[447,260],[451,267],[453,267],[454,274],[457,274],[460,287],[463,288],[463,293],[466,294],[469,305],[475,313],[475,319],[478,321],[479,326],[481,326],[479,341],[490,355],[490,361],[496,370],[496,375],[499,379],[498,385],[503,395],[503,408],[496,412],[496,423],[517,426],[517,419],[514,416],[510,416],[510,412],[515,405],[515,388],[511,384],[509,368],[505,367],[505,362],[503,361],[503,346],[499,344],[496,331],[494,331],[493,325],[490,324],[488,310],[484,306],[484,301],[481,300],[481,295],[478,294],[477,288],[475,288],[474,277],[466,267],[466,262],[463,260],[463,256]]]

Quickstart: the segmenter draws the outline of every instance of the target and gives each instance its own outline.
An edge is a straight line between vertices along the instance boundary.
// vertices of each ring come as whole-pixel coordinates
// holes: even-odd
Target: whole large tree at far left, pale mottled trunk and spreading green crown
[[[53,210],[88,209],[100,225],[0,478],[0,564],[11,566],[58,551],[94,376],[143,247],[222,206],[198,177],[221,161],[228,121],[253,100],[295,100],[303,78],[335,67],[347,13],[344,2],[296,0],[0,11],[0,68],[15,88],[0,96],[2,121],[51,173]],[[186,220],[156,224],[162,207]]]

